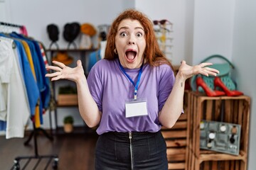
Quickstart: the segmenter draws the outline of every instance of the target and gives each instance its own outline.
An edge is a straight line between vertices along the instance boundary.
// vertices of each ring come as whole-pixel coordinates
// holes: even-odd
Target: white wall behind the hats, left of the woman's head
[[[9,0],[11,6],[11,23],[26,26],[28,34],[41,40],[46,47],[50,39],[46,31],[49,23],[55,23],[59,30],[58,45],[65,48],[68,42],[63,39],[65,23],[110,24],[123,10],[123,0]],[[113,5],[114,4],[114,5]],[[110,10],[111,8],[111,10]],[[78,41],[78,39],[76,39]],[[78,43],[77,43],[78,45]]]

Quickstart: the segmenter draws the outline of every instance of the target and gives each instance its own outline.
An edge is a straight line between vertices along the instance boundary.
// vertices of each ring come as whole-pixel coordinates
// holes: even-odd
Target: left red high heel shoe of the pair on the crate
[[[196,89],[198,91],[198,87],[201,86],[203,90],[206,92],[207,96],[213,97],[213,96],[225,96],[225,93],[223,91],[213,91],[210,89],[210,87],[207,86],[206,82],[203,81],[202,77],[196,78]]]

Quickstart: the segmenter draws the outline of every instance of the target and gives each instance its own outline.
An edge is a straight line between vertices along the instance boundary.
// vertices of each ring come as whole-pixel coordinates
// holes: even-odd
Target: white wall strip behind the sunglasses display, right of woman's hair
[[[135,8],[146,13],[152,21],[167,19],[174,23],[174,38],[171,62],[176,65],[185,60],[186,0],[137,0]]]

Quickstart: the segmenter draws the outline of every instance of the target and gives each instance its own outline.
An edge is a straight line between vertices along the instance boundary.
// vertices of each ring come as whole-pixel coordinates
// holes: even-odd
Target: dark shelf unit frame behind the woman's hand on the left
[[[46,50],[46,52],[49,53],[49,59],[48,61],[52,61],[53,56],[57,53],[57,52],[68,52],[68,53],[77,53],[79,55],[79,59],[82,62],[82,67],[84,69],[85,75],[86,75],[86,67],[87,67],[87,60],[86,57],[88,56],[88,54],[90,54],[90,52],[94,52],[97,49],[48,49]],[[50,63],[49,63],[50,64]],[[65,80],[63,80],[65,81]],[[67,80],[68,81],[68,80]],[[53,85],[53,98],[55,98],[55,103],[56,103],[56,107],[54,110],[54,118],[55,118],[55,135],[62,135],[64,134],[63,132],[63,128],[60,128],[58,126],[58,108],[65,108],[65,109],[69,109],[69,108],[78,108],[78,105],[59,105],[58,104],[58,99],[57,96],[55,95],[55,91],[56,89],[56,84],[61,84],[61,82],[57,82],[57,81],[52,81],[52,85]],[[74,84],[72,81],[69,82],[69,84]],[[91,131],[88,130],[87,125],[85,124],[85,128],[81,129],[80,127],[75,127],[74,128],[74,132],[72,133],[82,133],[82,132],[87,132],[87,131]],[[65,133],[67,134],[67,133]]]

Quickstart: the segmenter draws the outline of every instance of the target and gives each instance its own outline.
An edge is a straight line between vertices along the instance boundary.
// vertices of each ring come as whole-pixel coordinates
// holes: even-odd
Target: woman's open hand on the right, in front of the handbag
[[[183,60],[181,62],[181,66],[178,69],[177,76],[184,80],[189,79],[190,77],[193,77],[196,74],[203,74],[207,77],[209,75],[216,76],[219,73],[219,71],[217,69],[206,67],[209,65],[212,65],[212,63],[203,62],[195,66],[190,66],[186,64],[186,62]]]

